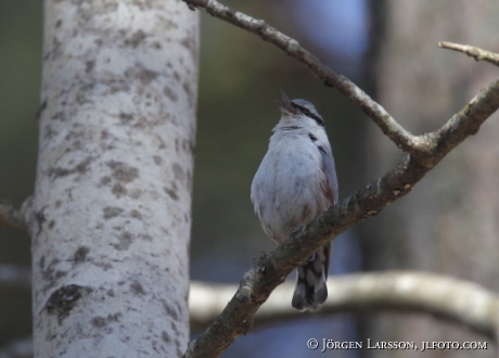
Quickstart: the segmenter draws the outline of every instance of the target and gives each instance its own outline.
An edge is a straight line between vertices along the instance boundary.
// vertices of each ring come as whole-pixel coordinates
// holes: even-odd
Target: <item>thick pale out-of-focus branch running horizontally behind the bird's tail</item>
[[[191,328],[209,324],[236,289],[229,284],[191,283]],[[469,281],[433,273],[392,271],[330,278],[328,289],[328,301],[318,312],[321,316],[345,311],[419,311],[462,323],[492,340],[498,329],[499,296]],[[255,324],[308,317],[286,304],[293,290],[291,283],[277,287],[258,310]]]

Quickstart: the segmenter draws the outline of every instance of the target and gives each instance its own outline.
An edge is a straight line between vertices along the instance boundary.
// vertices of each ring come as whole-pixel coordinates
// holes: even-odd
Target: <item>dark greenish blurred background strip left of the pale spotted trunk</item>
[[[22,203],[33,193],[41,78],[42,1],[0,2],[0,200]],[[0,269],[29,267],[27,233],[0,227]],[[31,334],[28,291],[0,287],[0,347]]]

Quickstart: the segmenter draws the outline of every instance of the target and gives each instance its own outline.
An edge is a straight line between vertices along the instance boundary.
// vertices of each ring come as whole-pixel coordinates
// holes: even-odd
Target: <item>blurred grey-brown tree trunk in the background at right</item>
[[[388,0],[387,27],[378,73],[379,100],[413,133],[434,130],[461,107],[497,67],[436,47],[447,40],[498,51],[497,2]],[[472,280],[499,290],[498,115],[459,146],[413,195],[397,203],[366,230],[368,269],[417,269]],[[398,154],[373,130],[370,176],[396,163]],[[471,307],[470,307],[471,309]],[[383,318],[366,335],[384,341],[483,341],[427,317]],[[370,350],[370,357],[419,353]],[[425,357],[490,357],[489,350],[434,350]]]

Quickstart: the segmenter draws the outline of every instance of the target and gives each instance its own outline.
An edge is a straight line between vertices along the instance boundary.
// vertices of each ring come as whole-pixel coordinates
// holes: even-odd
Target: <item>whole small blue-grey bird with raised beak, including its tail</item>
[[[324,120],[314,104],[289,100],[281,89],[281,119],[251,187],[251,200],[265,233],[278,245],[293,230],[337,203],[334,157]],[[328,297],[332,242],[297,268],[292,306],[315,311]]]

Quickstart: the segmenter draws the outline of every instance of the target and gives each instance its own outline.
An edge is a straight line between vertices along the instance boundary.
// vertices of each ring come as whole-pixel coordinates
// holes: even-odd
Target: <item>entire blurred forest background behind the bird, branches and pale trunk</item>
[[[413,133],[434,130],[497,77],[497,68],[438,50],[439,40],[499,51],[499,3],[491,0],[226,0],[264,18],[347,75]],[[30,195],[37,156],[42,1],[0,2],[0,199]],[[236,283],[253,257],[272,250],[253,213],[250,186],[280,112],[278,88],[311,101],[325,119],[340,197],[393,167],[404,154],[359,110],[280,50],[202,14],[191,277]],[[444,272],[499,290],[499,123],[486,122],[412,193],[335,240],[331,274],[359,270]],[[28,268],[26,233],[0,228],[0,270]],[[293,278],[290,278],[294,280]],[[283,305],[290,305],[283,302]],[[30,293],[0,286],[0,353],[31,332]],[[195,334],[196,332],[192,332]],[[311,351],[334,341],[484,341],[421,315],[305,314],[252,331],[226,357],[374,357],[407,351]],[[491,357],[486,351],[464,351]],[[459,351],[415,353],[446,357]],[[461,353],[463,354],[463,353]]]

